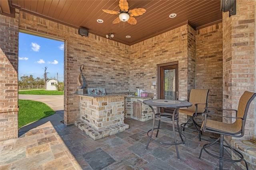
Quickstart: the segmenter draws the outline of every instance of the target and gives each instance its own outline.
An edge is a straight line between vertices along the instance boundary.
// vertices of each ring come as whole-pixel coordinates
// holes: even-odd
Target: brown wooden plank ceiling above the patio
[[[1,0],[1,4],[6,0]],[[118,16],[102,11],[119,11],[119,0],[10,0],[9,10],[1,5],[1,11],[18,8],[37,16],[64,23],[75,28],[85,28],[90,33],[105,37],[113,33],[112,40],[133,45],[185,23],[199,29],[220,23],[220,0],[127,0],[129,9],[144,8],[146,13],[135,16],[136,25],[127,22],[113,24]],[[175,13],[175,18],[169,15]],[[97,20],[103,20],[98,23]],[[129,35],[130,38],[126,38]]]

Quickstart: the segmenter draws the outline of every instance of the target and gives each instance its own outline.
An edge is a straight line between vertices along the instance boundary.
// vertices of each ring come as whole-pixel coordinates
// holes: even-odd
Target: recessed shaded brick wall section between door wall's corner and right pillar
[[[222,23],[196,32],[196,88],[210,89],[209,107],[222,108],[222,41]],[[196,121],[202,122],[202,119],[198,116]],[[222,121],[222,117],[212,119]]]

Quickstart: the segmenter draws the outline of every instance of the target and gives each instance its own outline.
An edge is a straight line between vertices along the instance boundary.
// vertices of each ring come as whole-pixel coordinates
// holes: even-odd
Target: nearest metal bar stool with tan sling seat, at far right
[[[213,143],[207,143],[205,144],[200,152],[199,158],[201,158],[202,150],[204,150],[206,153],[210,154],[211,156],[214,156],[215,158],[220,159],[220,170],[222,170],[222,162],[224,161],[229,161],[229,162],[241,162],[244,161],[246,165],[246,169],[248,170],[248,164],[246,160],[244,160],[244,156],[242,155],[241,152],[238,150],[233,149],[228,142],[224,139],[224,135],[232,136],[232,137],[242,137],[244,136],[244,126],[246,122],[246,117],[247,117],[247,112],[248,108],[250,106],[250,103],[252,100],[255,98],[256,93],[248,92],[245,91],[244,94],[241,96],[239,103],[238,103],[238,109],[220,109],[220,110],[226,110],[226,111],[235,111],[236,112],[236,117],[228,117],[228,118],[234,118],[236,119],[233,123],[224,123],[224,122],[219,122],[219,121],[214,121],[207,119],[207,115],[216,115],[216,116],[221,116],[221,117],[227,117],[227,116],[222,116],[222,115],[217,115],[217,114],[212,114],[209,113],[209,109],[217,109],[214,107],[206,107],[206,113],[204,114],[205,120],[203,121],[201,130],[204,132],[212,132],[212,133],[217,133],[220,134],[220,137],[214,141]],[[217,143],[220,141],[220,143]],[[224,142],[226,145],[224,145]],[[219,145],[220,146],[220,154],[219,156],[214,155],[210,153],[206,148],[212,146],[212,145]],[[224,158],[224,147],[230,149],[234,154],[236,154],[240,159],[238,160],[232,160],[229,158]]]

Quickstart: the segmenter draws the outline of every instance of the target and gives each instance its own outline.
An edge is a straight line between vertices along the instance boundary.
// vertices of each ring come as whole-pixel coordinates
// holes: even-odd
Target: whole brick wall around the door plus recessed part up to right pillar
[[[150,88],[156,65],[178,61],[179,99],[186,100],[192,88],[210,89],[209,106],[222,108],[222,23],[198,31],[183,25],[132,45],[130,61],[131,90],[142,88],[156,98],[157,89]],[[180,115],[180,122],[186,119]]]

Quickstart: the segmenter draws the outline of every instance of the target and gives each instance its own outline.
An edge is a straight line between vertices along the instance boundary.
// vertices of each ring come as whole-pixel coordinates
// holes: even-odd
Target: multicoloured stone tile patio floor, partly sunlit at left
[[[152,120],[125,119],[127,131],[94,141],[74,125],[52,126],[31,130],[18,139],[0,142],[0,170],[217,170],[218,159],[200,149],[215,138],[185,130],[185,144],[178,145],[180,160],[173,145],[151,141],[146,133]],[[168,127],[169,123],[161,123]],[[172,131],[161,130],[158,139],[170,141]],[[216,147],[211,147],[212,152]],[[241,170],[235,163],[223,163],[225,170]]]

